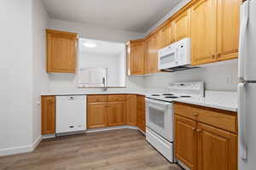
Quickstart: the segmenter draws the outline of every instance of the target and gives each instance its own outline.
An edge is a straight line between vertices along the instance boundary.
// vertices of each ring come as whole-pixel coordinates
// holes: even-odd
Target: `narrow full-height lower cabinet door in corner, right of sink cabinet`
[[[126,124],[137,126],[137,95],[127,95]]]

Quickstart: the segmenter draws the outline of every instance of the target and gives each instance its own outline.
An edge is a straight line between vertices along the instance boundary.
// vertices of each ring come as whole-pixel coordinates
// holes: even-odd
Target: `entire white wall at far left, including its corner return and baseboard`
[[[40,0],[0,6],[0,156],[33,150],[41,137],[40,94],[48,91],[45,28]]]

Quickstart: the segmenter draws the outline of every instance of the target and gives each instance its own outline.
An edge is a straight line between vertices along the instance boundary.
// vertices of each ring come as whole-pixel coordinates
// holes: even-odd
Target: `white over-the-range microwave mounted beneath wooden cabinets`
[[[180,71],[191,67],[191,41],[186,37],[158,52],[158,68],[161,71]]]

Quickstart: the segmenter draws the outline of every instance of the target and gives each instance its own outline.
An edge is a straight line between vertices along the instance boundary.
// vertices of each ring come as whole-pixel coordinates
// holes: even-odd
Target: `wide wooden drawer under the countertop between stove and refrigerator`
[[[237,133],[235,112],[177,103],[174,105],[174,112],[176,115],[206,123],[232,133]]]

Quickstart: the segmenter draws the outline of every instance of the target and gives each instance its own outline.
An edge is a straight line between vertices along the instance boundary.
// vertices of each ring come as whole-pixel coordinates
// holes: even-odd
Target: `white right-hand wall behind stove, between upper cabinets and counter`
[[[237,62],[230,61],[228,64],[197,68],[173,73],[158,73],[145,77],[144,88],[166,88],[169,82],[206,82],[207,90],[236,91]]]

